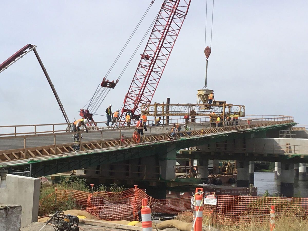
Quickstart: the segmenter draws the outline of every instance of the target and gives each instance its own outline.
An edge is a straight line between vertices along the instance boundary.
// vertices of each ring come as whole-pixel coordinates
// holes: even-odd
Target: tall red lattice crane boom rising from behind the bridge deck
[[[138,119],[141,105],[150,104],[186,17],[190,0],[164,0],[135,76],[124,99],[121,117],[127,111]]]

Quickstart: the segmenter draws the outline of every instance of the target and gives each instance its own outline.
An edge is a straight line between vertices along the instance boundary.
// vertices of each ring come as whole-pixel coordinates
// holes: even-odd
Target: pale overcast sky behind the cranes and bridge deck
[[[150,2],[2,1],[0,63],[28,43],[37,45],[69,119],[77,119]],[[162,2],[155,0],[109,79],[117,79]],[[191,1],[153,102],[196,103],[205,81],[205,3]],[[308,1],[215,1],[207,84],[215,99],[245,105],[246,115],[291,115],[308,124],[307,11]],[[210,30],[207,36],[210,46]],[[109,103],[113,110],[122,106],[146,41],[98,114]],[[33,52],[0,80],[1,125],[65,122]]]

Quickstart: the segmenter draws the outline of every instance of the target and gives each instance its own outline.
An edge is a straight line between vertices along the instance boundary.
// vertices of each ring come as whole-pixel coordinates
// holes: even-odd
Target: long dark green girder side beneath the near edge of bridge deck
[[[202,136],[181,137],[178,140],[166,140],[162,142],[141,143],[130,147],[119,147],[115,150],[96,150],[86,153],[77,153],[71,156],[53,156],[49,159],[30,160],[24,163],[0,164],[0,168],[15,166],[29,166],[31,164],[32,176],[47,176],[59,172],[68,172],[75,169],[89,168],[101,164],[111,164],[124,160],[136,159],[140,157],[157,155],[163,156],[168,147],[175,145],[176,150],[195,147],[211,142],[221,142],[229,139],[250,137],[251,134],[264,133],[269,129],[281,129],[282,127],[292,126],[296,123],[276,124],[264,127],[256,127],[242,130],[233,130],[223,133],[211,133]],[[220,157],[221,159],[225,159]],[[267,158],[264,158],[267,159]],[[273,161],[273,160],[271,160]],[[304,162],[301,162],[304,163]]]

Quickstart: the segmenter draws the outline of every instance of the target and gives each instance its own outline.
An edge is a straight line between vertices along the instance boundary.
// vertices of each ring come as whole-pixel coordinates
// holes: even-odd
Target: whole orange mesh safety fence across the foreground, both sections
[[[86,193],[76,190],[58,190],[56,200],[75,203],[87,212],[103,220],[138,220],[141,201],[148,198],[152,212],[178,214],[191,211],[191,197],[158,200],[148,196],[139,188],[131,188],[120,193]],[[52,193],[49,196],[55,194]],[[217,195],[217,205],[204,205],[203,213],[212,216],[213,222],[269,222],[270,207],[275,206],[276,217],[296,216],[308,218],[308,198],[250,197]]]

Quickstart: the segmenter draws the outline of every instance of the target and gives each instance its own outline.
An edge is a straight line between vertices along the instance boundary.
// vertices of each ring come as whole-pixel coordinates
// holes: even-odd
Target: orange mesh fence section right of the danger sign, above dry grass
[[[270,208],[275,206],[276,217],[308,218],[308,198],[249,197],[219,195],[217,205],[206,205],[216,223],[269,222]]]

